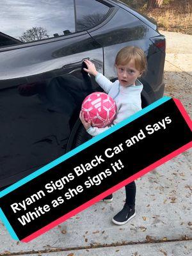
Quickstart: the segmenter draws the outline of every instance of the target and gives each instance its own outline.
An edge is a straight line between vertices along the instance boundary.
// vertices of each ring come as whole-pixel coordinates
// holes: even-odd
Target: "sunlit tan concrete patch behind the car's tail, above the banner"
[[[192,116],[192,35],[160,32],[166,36],[164,94],[179,99]]]

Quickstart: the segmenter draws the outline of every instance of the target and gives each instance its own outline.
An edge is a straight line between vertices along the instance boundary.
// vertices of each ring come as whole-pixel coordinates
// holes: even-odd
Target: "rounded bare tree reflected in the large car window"
[[[19,37],[19,40],[22,42],[31,42],[43,38],[49,38],[49,35],[47,35],[47,29],[42,27],[33,27],[22,33],[22,36]]]

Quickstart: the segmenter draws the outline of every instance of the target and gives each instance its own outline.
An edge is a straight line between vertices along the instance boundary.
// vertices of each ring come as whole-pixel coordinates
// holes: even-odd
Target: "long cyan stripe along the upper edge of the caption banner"
[[[146,108],[141,109],[140,111],[138,111],[134,115],[132,115],[129,118],[125,119],[124,121],[120,122],[119,124],[114,125],[113,127],[108,129],[107,131],[104,131],[101,134],[99,134],[99,135],[95,136],[94,138],[92,138],[91,140],[86,141],[85,143],[83,143],[82,145],[80,145],[77,148],[74,148],[73,150],[71,150],[67,154],[65,154],[65,155],[63,155],[61,157],[58,157],[56,160],[52,161],[51,163],[45,165],[44,167],[40,168],[39,170],[36,170],[35,172],[31,173],[27,177],[24,177],[23,179],[19,180],[15,184],[13,184],[13,185],[9,186],[8,188],[4,189],[3,191],[1,191],[0,192],[0,198],[2,196],[4,196],[4,195],[10,193],[14,189],[19,188],[20,186],[22,186],[23,184],[25,184],[29,180],[35,179],[38,175],[40,175],[40,174],[42,174],[44,172],[47,172],[49,169],[51,169],[52,167],[56,166],[57,164],[60,164],[61,162],[63,162],[66,159],[68,159],[69,157],[72,157],[72,156],[76,155],[81,150],[84,150],[85,148],[89,147],[93,143],[96,143],[97,141],[99,141],[102,138],[108,136],[112,132],[115,132],[116,130],[120,129],[124,125],[129,124],[130,122],[132,122],[136,118],[138,118],[138,117],[140,117],[142,115],[145,115],[145,113],[149,112],[150,110],[152,110],[154,108],[157,108],[159,105],[163,104],[164,102],[166,102],[167,100],[170,100],[170,99],[172,99],[172,98],[164,96],[163,98],[157,100],[156,102],[150,104]]]

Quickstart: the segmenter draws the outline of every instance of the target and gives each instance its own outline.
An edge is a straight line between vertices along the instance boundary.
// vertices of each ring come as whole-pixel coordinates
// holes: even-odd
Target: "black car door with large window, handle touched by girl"
[[[97,90],[82,68],[90,59],[103,73],[102,47],[78,29],[74,2],[3,3],[0,187],[65,154],[81,102]]]

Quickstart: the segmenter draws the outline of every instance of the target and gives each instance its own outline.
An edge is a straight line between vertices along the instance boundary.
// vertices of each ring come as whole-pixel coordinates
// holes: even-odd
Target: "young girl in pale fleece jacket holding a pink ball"
[[[118,80],[114,83],[97,72],[95,65],[91,61],[84,60],[84,63],[86,63],[87,68],[83,69],[95,76],[95,81],[116,102],[116,118],[111,125],[115,125],[141,110],[141,91],[143,90],[143,84],[138,80],[138,77],[147,70],[147,60],[142,49],[128,46],[118,52],[115,59]],[[80,112],[79,118],[86,131],[92,136],[96,136],[111,127],[111,125],[104,128],[92,127],[91,122],[84,120],[82,112]],[[136,184],[134,181],[125,186],[125,194],[125,205],[112,220],[117,225],[124,225],[136,214],[134,209]],[[104,202],[111,202],[112,200],[113,195],[104,198]]]

